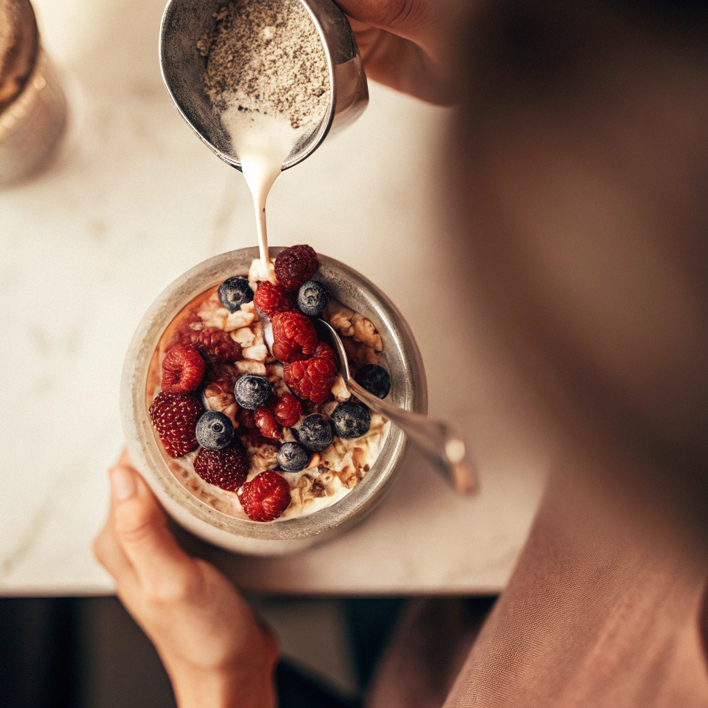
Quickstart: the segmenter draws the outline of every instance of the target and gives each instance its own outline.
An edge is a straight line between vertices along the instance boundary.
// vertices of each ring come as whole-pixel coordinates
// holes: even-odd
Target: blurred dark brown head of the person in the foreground
[[[569,445],[706,528],[707,5],[486,5],[449,184],[474,297]]]

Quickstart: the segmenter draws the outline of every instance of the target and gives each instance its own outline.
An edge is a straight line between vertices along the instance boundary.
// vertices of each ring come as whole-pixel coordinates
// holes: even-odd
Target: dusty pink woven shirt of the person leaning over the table
[[[479,632],[461,601],[419,602],[370,708],[708,707],[704,569],[660,527],[611,526],[547,498]]]

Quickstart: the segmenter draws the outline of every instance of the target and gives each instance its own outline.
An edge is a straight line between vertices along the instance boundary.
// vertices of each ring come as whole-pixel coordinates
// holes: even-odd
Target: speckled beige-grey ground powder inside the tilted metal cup
[[[207,57],[205,90],[217,110],[278,115],[294,129],[319,122],[329,103],[329,70],[299,0],[238,0],[214,19],[197,48]]]

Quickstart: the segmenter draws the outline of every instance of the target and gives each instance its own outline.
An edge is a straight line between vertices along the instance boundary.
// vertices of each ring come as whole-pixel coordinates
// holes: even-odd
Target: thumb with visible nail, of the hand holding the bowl
[[[193,561],[168,529],[151,489],[122,464],[110,471],[110,483],[115,535],[139,581],[158,593],[165,583],[181,581]]]

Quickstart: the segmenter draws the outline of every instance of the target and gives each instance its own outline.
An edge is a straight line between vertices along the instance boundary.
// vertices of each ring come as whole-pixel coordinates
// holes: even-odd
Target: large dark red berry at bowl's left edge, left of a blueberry
[[[150,420],[170,457],[182,457],[199,447],[197,421],[204,412],[194,396],[161,392],[150,406]]]

